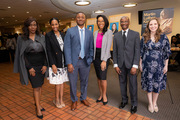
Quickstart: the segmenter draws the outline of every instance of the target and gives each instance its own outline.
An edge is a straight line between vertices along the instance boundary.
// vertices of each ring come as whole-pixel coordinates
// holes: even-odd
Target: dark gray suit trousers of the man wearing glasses
[[[122,96],[122,102],[128,103],[127,96],[127,82],[129,78],[129,92],[131,97],[131,105],[137,106],[137,75],[130,73],[131,69],[126,68],[125,64],[120,68],[121,73],[119,75],[120,90]]]

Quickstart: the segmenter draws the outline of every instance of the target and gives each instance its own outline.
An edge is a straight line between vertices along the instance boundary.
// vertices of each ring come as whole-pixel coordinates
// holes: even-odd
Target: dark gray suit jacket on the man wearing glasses
[[[121,68],[125,63],[130,69],[133,65],[139,65],[140,59],[140,38],[139,33],[133,30],[128,31],[124,46],[122,31],[114,35],[113,41],[113,61]]]

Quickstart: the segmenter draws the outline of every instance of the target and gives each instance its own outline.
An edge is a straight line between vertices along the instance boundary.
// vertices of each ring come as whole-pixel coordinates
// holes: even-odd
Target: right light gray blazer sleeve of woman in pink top
[[[104,56],[104,61],[107,61],[107,59],[108,59],[108,55],[109,55],[109,53],[110,53],[110,49],[111,49],[111,44],[112,44],[112,39],[113,39],[113,33],[112,33],[112,31],[111,30],[109,30],[109,31],[107,31],[107,32],[109,32],[108,33],[108,40],[107,40],[107,46],[106,46],[106,50],[105,50],[105,56]]]

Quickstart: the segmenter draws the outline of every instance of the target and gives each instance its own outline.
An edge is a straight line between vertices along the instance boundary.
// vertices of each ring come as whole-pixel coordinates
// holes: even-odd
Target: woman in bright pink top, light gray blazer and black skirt
[[[107,69],[112,43],[112,31],[108,29],[109,21],[104,15],[97,16],[97,25],[99,30],[94,32],[94,68],[98,80],[100,96],[96,102],[103,102],[103,105],[108,103],[107,90]]]

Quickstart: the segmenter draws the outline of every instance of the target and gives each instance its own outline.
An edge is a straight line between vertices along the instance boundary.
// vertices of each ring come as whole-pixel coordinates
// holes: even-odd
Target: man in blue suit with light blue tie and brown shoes
[[[77,108],[78,98],[76,96],[76,90],[78,72],[81,89],[80,101],[84,105],[90,106],[86,97],[90,65],[93,61],[94,45],[93,33],[84,27],[85,21],[85,14],[83,12],[77,13],[77,26],[69,28],[64,39],[65,60],[68,65],[70,95],[72,100],[71,110]]]

